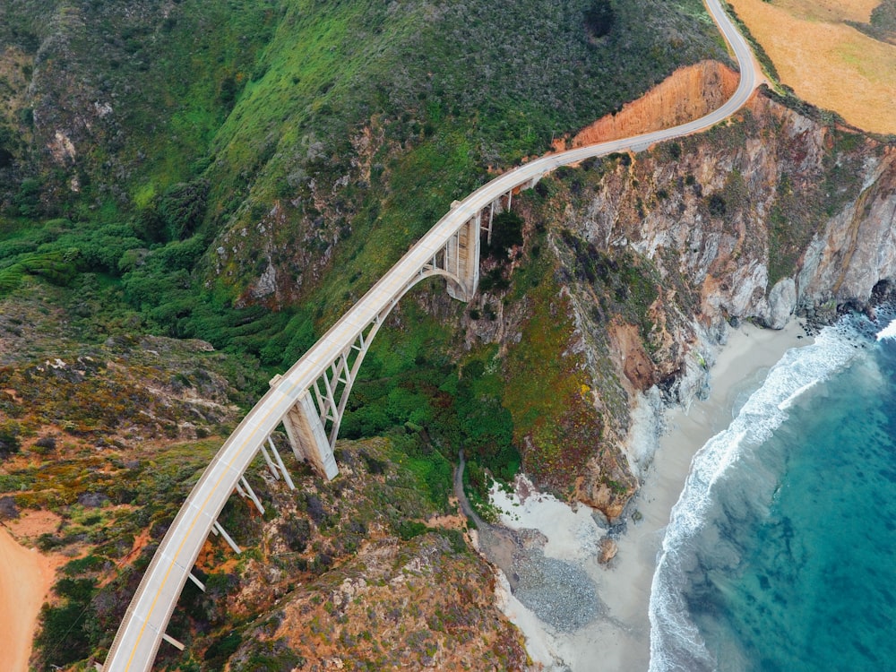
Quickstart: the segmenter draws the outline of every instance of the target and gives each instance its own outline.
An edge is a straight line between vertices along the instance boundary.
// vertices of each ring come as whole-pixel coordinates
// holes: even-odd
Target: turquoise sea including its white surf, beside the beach
[[[896,340],[880,329],[851,317],[788,352],[694,458],[654,576],[651,670],[896,669]]]

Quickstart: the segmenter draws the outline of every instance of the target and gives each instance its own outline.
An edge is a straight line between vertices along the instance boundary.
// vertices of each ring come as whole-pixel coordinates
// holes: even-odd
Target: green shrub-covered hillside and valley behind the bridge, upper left
[[[17,5],[4,30],[22,48],[22,72],[49,67],[29,55],[45,30],[59,31],[71,53],[53,81],[80,87],[75,100],[101,130],[75,159],[78,191],[70,170],[27,147],[15,154],[0,218],[0,294],[26,277],[71,286],[78,273],[99,273],[112,284],[103,291],[108,313],[134,312],[145,332],[209,340],[271,373],[487,166],[542,151],[676,65],[718,54],[711,28],[689,18],[701,11],[695,0],[650,10],[452,4],[439,13],[360,0],[313,11],[298,0],[226,8],[190,0],[162,20],[104,3],[82,14],[51,0]],[[45,28],[40,18],[54,15]],[[622,44],[630,56],[618,59]],[[65,108],[48,105],[34,110],[42,121],[32,150],[65,119]],[[24,128],[33,118],[7,123]],[[82,138],[71,141],[78,150]],[[280,221],[257,227],[273,203]],[[51,212],[68,219],[36,225]],[[220,246],[222,231],[243,233]],[[302,252],[290,252],[297,241]],[[353,271],[321,286],[322,256]],[[297,280],[304,309],[289,295],[279,314],[243,307],[269,263]]]

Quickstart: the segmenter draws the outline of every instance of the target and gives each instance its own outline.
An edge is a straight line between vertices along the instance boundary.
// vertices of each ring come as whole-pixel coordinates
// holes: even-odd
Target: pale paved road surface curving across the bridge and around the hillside
[[[722,12],[719,0],[706,0],[706,4],[734,49],[740,67],[740,84],[731,99],[711,114],[688,124],[533,160],[496,177],[452,208],[280,378],[228,437],[177,513],[143,575],[109,650],[104,667],[106,672],[136,672],[152,668],[168,619],[177,606],[177,599],[199,551],[237,481],[263,442],[280,425],[280,420],[296,404],[299,396],[344,349],[355,342],[358,333],[376,315],[382,314],[384,309],[401,298],[409,289],[409,283],[412,284],[411,280],[418,276],[419,271],[461,226],[514,187],[529,183],[554,168],[614,151],[642,151],[655,142],[693,134],[719,123],[745,104],[756,86],[752,54],[745,40]]]

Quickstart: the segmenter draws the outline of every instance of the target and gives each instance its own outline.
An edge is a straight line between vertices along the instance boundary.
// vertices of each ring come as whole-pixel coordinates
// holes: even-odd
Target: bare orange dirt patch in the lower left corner
[[[0,669],[27,672],[40,606],[53,585],[56,563],[20,546],[0,527]]]

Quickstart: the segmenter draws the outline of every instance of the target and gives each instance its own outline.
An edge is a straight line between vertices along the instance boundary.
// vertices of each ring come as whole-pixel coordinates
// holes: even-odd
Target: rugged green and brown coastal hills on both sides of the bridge
[[[0,518],[56,516],[20,535],[62,563],[40,668],[104,657],[241,409],[454,198],[599,117],[668,123],[624,105],[681,66],[681,114],[734,76],[697,2],[0,13]],[[208,591],[171,628],[187,650],[159,666],[524,668],[452,504],[457,449],[474,504],[522,469],[622,517],[650,460],[626,443],[642,392],[699,394],[728,321],[889,288],[892,154],[762,93],[514,196],[479,296],[425,284],[377,337],[341,433],[351,478],[297,466],[296,495],[248,475],[266,513],[232,498],[247,551],[208,542]]]

